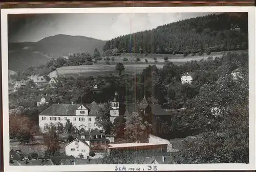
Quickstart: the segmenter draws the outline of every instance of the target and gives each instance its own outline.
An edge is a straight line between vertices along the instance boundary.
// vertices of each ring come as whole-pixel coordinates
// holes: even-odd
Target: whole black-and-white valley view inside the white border
[[[10,166],[249,163],[248,12],[7,22]]]

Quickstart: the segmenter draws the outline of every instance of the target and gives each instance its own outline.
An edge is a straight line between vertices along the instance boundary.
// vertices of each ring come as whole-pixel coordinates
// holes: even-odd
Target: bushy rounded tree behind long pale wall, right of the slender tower
[[[125,117],[124,135],[138,142],[146,142],[152,129],[152,125],[143,121],[138,113]]]

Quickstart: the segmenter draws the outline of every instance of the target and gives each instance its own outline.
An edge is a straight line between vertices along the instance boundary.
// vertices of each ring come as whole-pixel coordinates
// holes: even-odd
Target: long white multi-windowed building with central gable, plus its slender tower
[[[111,103],[110,119],[119,116],[119,102],[117,101],[117,92],[115,98]],[[39,128],[42,132],[46,129],[47,125],[57,125],[58,122],[65,126],[69,119],[80,131],[90,129],[100,129],[96,124],[96,117],[105,110],[105,104],[97,104],[93,101],[91,104],[53,104],[45,111],[39,114]]]

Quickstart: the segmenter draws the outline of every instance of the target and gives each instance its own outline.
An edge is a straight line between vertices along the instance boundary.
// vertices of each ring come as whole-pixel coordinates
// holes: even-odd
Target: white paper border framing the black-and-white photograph
[[[254,7],[128,7],[128,8],[44,8],[44,9],[2,9],[2,78],[3,78],[3,138],[5,171],[115,171],[116,164],[103,165],[54,165],[54,166],[10,166],[9,165],[9,111],[8,111],[8,34],[7,14],[22,13],[195,13],[195,12],[248,12],[249,22],[249,164],[164,164],[163,170],[254,170],[255,169],[255,8]],[[120,164],[119,164],[120,165]],[[128,165],[126,168],[147,165]]]

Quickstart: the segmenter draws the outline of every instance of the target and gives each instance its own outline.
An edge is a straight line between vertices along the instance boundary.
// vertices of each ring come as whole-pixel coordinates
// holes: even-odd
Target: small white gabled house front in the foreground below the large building
[[[80,154],[83,155],[83,158],[87,158],[90,153],[90,143],[89,141],[86,141],[86,143],[83,143],[82,141],[75,139],[69,144],[65,146],[65,153],[68,156],[74,156],[75,158],[79,158]]]

